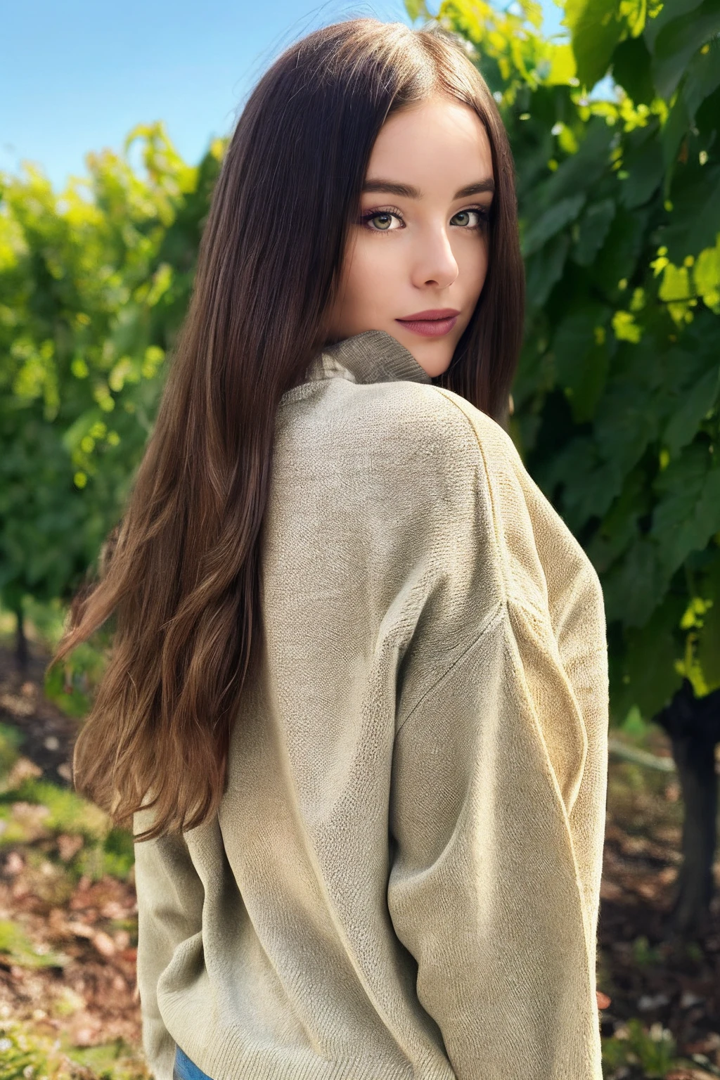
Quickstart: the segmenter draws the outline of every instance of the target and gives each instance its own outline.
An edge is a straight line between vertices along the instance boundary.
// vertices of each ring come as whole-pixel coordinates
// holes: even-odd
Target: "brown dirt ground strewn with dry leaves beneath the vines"
[[[22,731],[21,753],[37,774],[67,787],[77,725],[44,699],[45,662],[32,646],[21,678],[12,654],[0,648],[0,720]],[[657,727],[642,747],[670,756]],[[669,1029],[678,1054],[695,1055],[697,1068],[668,1072],[668,1080],[720,1076],[720,850],[710,931],[690,948],[674,944],[667,913],[682,861],[679,795],[675,773],[611,755],[598,960],[598,988],[610,1002],[601,1030],[622,1039],[633,1017],[649,1030]],[[32,815],[38,808],[21,812]],[[70,895],[62,889],[53,895],[53,865],[72,859],[83,841],[69,833],[43,838],[41,827],[38,835],[33,843],[0,847],[0,920],[19,923],[36,951],[60,953],[64,966],[26,968],[0,951],[0,1018],[63,1031],[78,1048],[119,1040],[132,1049],[131,1072],[149,1076],[139,1049],[133,873],[127,881],[85,876]]]

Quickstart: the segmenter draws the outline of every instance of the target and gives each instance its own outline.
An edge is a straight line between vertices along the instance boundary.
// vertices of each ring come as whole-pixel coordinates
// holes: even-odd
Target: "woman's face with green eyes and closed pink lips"
[[[434,97],[393,113],[370,154],[330,339],[386,330],[431,378],[445,372],[485,283],[492,193],[474,109]]]

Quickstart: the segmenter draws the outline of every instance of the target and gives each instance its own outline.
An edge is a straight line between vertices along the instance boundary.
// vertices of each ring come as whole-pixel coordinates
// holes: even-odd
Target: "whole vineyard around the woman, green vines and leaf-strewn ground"
[[[511,435],[606,600],[606,1077],[720,1077],[720,5],[565,17],[437,15],[515,157]],[[0,1080],[148,1076],[132,836],[71,785],[109,630],[46,665],[152,431],[226,147],[190,165],[157,122],[60,192],[0,173]]]

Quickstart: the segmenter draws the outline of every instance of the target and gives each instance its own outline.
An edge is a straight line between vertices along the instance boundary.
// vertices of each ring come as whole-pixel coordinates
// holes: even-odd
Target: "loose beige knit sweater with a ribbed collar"
[[[213,1080],[601,1080],[595,569],[383,332],[316,357],[275,440],[219,814],[135,845],[151,1069],[177,1043]]]

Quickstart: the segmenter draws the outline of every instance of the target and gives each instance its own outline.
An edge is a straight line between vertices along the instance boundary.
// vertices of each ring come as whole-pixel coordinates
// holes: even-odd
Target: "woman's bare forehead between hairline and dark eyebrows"
[[[444,180],[453,190],[461,180],[492,176],[490,141],[475,110],[454,98],[433,97],[394,112],[382,125],[370,153],[367,175],[406,180],[422,187]]]

